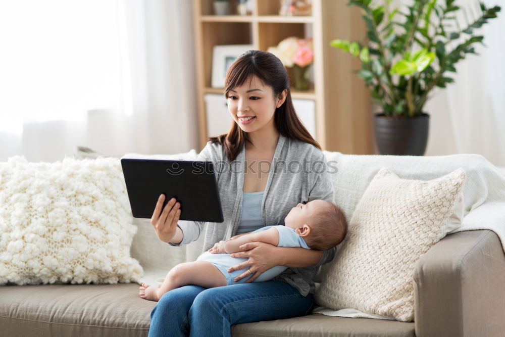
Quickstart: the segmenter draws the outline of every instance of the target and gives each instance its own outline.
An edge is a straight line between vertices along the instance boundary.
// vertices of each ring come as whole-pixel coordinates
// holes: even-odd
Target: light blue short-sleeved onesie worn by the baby
[[[274,227],[279,231],[279,244],[277,245],[277,247],[301,247],[305,249],[310,249],[309,246],[307,246],[305,240],[300,235],[298,235],[293,228],[286,227],[283,225],[265,226],[253,231],[252,233],[267,230],[271,227]],[[247,271],[247,268],[235,270],[232,271],[231,273],[227,271],[228,268],[235,266],[241,262],[247,261],[246,258],[232,258],[230,254],[212,254],[209,252],[204,252],[200,256],[198,256],[196,260],[209,261],[213,265],[215,265],[226,277],[227,285],[244,283],[250,277],[250,276],[244,277],[238,282],[235,282],[233,279],[238,275],[242,274],[243,272]],[[258,278],[254,280],[254,282],[263,282],[271,280],[272,278],[279,275],[286,269],[287,267],[285,266],[275,266],[273,268],[270,268],[263,274],[258,276]]]

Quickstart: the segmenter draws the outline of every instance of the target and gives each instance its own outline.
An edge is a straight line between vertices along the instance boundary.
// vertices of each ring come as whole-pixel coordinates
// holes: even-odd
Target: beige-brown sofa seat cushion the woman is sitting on
[[[3,286],[0,335],[147,336],[149,314],[156,304],[141,299],[136,284]],[[415,337],[414,323],[324,315],[235,324],[231,335]]]

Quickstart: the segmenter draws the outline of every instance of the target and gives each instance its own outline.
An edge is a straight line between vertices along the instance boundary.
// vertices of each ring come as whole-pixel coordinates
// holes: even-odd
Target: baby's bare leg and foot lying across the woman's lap
[[[226,285],[226,277],[208,261],[180,263],[168,272],[159,288],[142,284],[139,293],[141,298],[159,301],[166,292],[188,284],[205,288],[224,286]]]

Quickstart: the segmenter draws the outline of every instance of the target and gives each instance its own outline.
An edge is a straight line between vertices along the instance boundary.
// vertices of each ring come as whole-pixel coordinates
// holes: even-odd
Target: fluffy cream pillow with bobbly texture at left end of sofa
[[[137,281],[136,231],[117,158],[0,163],[0,284]]]

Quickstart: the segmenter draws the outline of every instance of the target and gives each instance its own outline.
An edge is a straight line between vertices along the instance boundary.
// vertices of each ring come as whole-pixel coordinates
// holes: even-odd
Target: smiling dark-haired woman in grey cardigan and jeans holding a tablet
[[[212,161],[224,222],[179,221],[179,205],[160,197],[151,218],[157,235],[181,246],[205,234],[204,251],[220,240],[266,225],[283,224],[300,200],[333,201],[333,186],[319,144],[293,108],[289,81],[273,54],[248,51],[226,74],[225,97],[234,120],[228,133],[210,138],[200,152]],[[229,271],[247,268],[236,280],[215,288],[187,285],[162,296],[151,312],[149,336],[230,336],[233,324],[297,317],[314,306],[317,267],[330,262],[335,248],[321,252],[252,242],[233,257],[248,258]],[[252,282],[276,266],[276,278]]]

